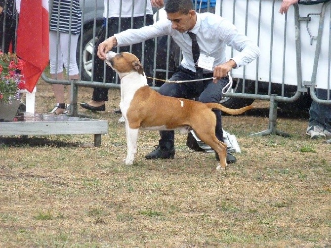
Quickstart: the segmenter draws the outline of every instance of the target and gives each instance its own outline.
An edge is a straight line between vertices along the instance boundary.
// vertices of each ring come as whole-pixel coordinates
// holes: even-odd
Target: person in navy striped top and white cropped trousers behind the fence
[[[79,0],[51,0],[49,3],[49,64],[51,78],[63,80],[64,65],[69,80],[79,79],[76,61],[77,42],[82,25],[82,11]],[[64,85],[53,84],[53,91],[56,106],[51,113],[56,115],[67,113]]]

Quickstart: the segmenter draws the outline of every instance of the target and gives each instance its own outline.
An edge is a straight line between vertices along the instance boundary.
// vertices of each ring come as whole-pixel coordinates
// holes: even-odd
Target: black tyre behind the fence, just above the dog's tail
[[[253,88],[246,82],[245,93],[252,93]],[[243,81],[241,79],[233,80],[233,84],[230,92],[241,93],[243,92]],[[239,109],[248,106],[254,102],[254,99],[250,98],[239,98],[239,97],[223,97],[220,104],[230,109]]]

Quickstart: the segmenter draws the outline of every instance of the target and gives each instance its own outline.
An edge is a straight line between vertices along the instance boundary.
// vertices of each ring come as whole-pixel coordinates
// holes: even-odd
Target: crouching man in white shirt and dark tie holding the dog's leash
[[[229,82],[228,72],[232,68],[244,66],[259,56],[256,44],[226,19],[211,14],[199,14],[194,10],[192,0],[167,0],[165,3],[167,20],[160,20],[151,26],[130,29],[108,38],[98,46],[97,55],[105,60],[106,53],[114,46],[125,46],[154,37],[170,35],[182,49],[183,60],[170,81],[215,78],[197,82],[164,83],[159,92],[162,95],[182,98],[199,97],[200,102],[219,102],[222,89]],[[196,35],[200,57],[195,63],[192,40],[188,31]],[[230,60],[225,58],[226,45],[240,51]],[[219,110],[216,115],[216,137],[224,142]],[[161,139],[157,148],[145,156],[146,159],[174,158],[174,131],[160,131]],[[217,158],[216,156],[216,159]],[[228,153],[227,163],[235,163],[236,158]]]

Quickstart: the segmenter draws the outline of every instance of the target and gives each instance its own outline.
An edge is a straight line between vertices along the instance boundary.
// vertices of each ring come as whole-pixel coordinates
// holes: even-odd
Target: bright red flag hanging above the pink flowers
[[[21,0],[16,54],[24,61],[22,74],[32,92],[49,60],[48,0]]]

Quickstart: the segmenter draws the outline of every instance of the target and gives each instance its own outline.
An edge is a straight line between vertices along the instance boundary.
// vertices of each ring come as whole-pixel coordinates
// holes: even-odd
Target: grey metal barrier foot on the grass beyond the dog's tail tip
[[[265,136],[268,134],[276,134],[283,137],[290,137],[289,133],[277,130],[277,101],[275,101],[276,95],[270,96],[270,108],[269,108],[269,129],[250,134],[249,136]]]

